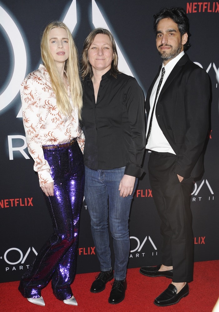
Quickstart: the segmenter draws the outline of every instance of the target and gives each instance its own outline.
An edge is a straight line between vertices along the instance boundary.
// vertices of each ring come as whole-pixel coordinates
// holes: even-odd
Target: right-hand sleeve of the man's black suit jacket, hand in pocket
[[[191,71],[184,96],[186,133],[177,153],[175,172],[188,178],[203,152],[209,127],[210,81],[205,70],[195,68]]]

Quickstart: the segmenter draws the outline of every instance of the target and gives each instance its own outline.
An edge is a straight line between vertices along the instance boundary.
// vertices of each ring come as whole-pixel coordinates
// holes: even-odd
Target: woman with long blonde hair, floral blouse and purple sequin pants
[[[64,23],[52,22],[45,28],[41,56],[43,65],[21,84],[21,99],[28,151],[54,232],[18,289],[28,301],[44,306],[41,290],[51,280],[57,299],[77,305],[70,285],[76,272],[84,193],[82,88],[77,49]]]

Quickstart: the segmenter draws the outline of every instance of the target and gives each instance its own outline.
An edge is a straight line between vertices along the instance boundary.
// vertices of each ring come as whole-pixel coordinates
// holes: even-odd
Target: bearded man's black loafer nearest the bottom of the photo
[[[178,294],[176,294],[177,288],[173,284],[170,284],[166,290],[160,294],[155,300],[154,304],[165,307],[166,305],[176,304],[183,297],[189,294],[189,285],[186,284]]]

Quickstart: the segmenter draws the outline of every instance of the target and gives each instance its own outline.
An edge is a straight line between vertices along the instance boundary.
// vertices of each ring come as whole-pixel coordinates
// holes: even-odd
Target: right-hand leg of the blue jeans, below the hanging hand
[[[114,278],[123,280],[126,277],[130,252],[129,214],[133,194],[120,197],[119,184],[124,176],[125,167],[105,170],[105,183],[109,193],[109,224],[115,253]],[[135,191],[138,179],[135,181]]]

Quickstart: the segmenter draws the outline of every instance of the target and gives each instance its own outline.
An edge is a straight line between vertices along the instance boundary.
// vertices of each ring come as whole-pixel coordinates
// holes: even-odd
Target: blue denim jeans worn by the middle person
[[[101,271],[111,269],[109,199],[109,228],[115,253],[114,278],[117,280],[125,279],[130,251],[128,221],[133,195],[120,197],[119,184],[124,172],[125,167],[111,170],[92,170],[85,167],[84,197],[90,214],[91,231]]]

